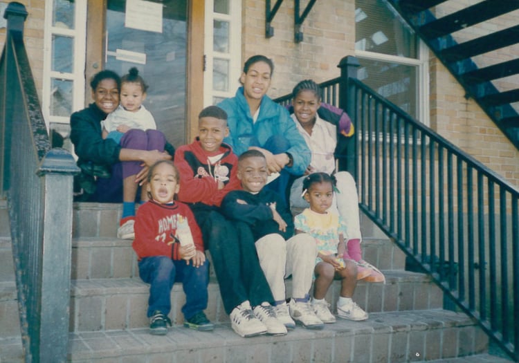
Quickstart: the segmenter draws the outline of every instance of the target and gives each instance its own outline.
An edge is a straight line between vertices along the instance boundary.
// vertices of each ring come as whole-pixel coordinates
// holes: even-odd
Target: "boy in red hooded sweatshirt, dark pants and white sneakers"
[[[208,106],[201,111],[199,136],[175,151],[182,185],[179,200],[188,203],[200,226],[234,331],[242,337],[285,335],[286,328],[271,306],[274,298],[251,229],[219,212],[224,196],[240,188],[237,156],[222,142],[228,133],[223,109]]]

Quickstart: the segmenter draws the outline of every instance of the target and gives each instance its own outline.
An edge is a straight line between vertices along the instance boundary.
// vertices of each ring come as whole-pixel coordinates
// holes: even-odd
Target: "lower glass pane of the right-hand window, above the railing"
[[[403,66],[371,59],[358,59],[358,79],[413,118],[418,118],[417,66]]]

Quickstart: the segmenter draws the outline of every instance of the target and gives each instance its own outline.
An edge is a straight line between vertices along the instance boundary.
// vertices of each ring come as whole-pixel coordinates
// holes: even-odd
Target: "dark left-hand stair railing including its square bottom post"
[[[0,58],[0,196],[8,201],[26,362],[65,362],[69,340],[71,154],[51,149],[23,40],[28,13],[10,3]]]

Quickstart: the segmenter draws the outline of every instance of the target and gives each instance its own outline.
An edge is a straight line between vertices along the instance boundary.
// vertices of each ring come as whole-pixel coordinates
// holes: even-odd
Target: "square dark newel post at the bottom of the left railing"
[[[64,149],[48,151],[37,171],[44,194],[39,362],[66,362],[69,346],[73,175],[78,171],[73,156]]]

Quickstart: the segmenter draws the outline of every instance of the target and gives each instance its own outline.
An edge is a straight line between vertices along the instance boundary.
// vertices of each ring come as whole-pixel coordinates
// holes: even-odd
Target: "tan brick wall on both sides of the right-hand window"
[[[469,6],[475,0],[459,0],[451,8],[439,9],[441,16]],[[303,4],[306,2],[302,1]],[[450,1],[452,6],[452,1]],[[265,38],[265,1],[243,1],[242,59],[264,54],[271,57],[275,71],[268,95],[277,97],[290,93],[300,80],[312,78],[323,82],[338,77],[336,67],[346,55],[354,55],[355,47],[355,1],[318,1],[302,25],[304,39],[299,44],[293,41],[293,1],[284,1],[275,15],[272,26],[274,36]],[[302,10],[301,10],[302,11]],[[515,20],[514,20],[515,19]],[[495,28],[511,26],[517,17],[506,15],[486,29],[476,28],[477,36],[495,31]],[[509,21],[510,24],[507,24]],[[513,25],[516,25],[514,23]],[[468,32],[468,30],[463,30]],[[486,32],[485,32],[486,31]],[[464,34],[465,39],[475,34]],[[491,59],[482,62],[495,64],[500,59],[517,57],[518,46],[500,50]],[[432,54],[432,52],[431,52]],[[509,89],[519,82],[500,82]],[[236,86],[239,84],[236,83]],[[450,142],[470,153],[477,160],[519,187],[519,151],[495,124],[486,116],[474,100],[466,100],[465,92],[446,68],[430,57],[430,124],[432,129]]]

